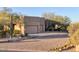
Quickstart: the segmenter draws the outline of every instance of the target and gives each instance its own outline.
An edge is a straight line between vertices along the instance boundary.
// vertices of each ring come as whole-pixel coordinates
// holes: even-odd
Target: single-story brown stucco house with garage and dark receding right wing
[[[49,31],[49,27],[53,27],[55,29],[57,27],[56,25],[66,26],[59,22],[37,16],[24,16],[23,21],[24,24],[21,27],[18,26],[21,29],[22,34],[42,33],[45,31]]]

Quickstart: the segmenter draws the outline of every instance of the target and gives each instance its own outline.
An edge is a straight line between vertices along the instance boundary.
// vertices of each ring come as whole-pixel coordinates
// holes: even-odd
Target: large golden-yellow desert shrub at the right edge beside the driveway
[[[69,41],[71,44],[79,44],[79,23],[70,24],[68,27]]]

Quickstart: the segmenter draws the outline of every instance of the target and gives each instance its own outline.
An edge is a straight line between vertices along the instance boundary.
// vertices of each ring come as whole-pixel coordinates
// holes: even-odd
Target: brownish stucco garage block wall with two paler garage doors
[[[25,33],[40,33],[45,31],[45,19],[41,17],[24,17]]]

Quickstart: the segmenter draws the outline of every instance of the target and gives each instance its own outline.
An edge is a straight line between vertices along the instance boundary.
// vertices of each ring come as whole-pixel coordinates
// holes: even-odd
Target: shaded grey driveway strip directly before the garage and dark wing
[[[29,39],[58,39],[68,38],[68,33],[40,33],[40,34],[29,34]]]

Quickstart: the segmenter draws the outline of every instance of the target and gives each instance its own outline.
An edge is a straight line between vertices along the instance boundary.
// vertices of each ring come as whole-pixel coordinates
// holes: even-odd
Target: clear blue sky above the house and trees
[[[21,12],[28,16],[41,16],[45,12],[52,12],[57,15],[68,16],[72,22],[79,21],[78,7],[12,7],[13,12]]]

